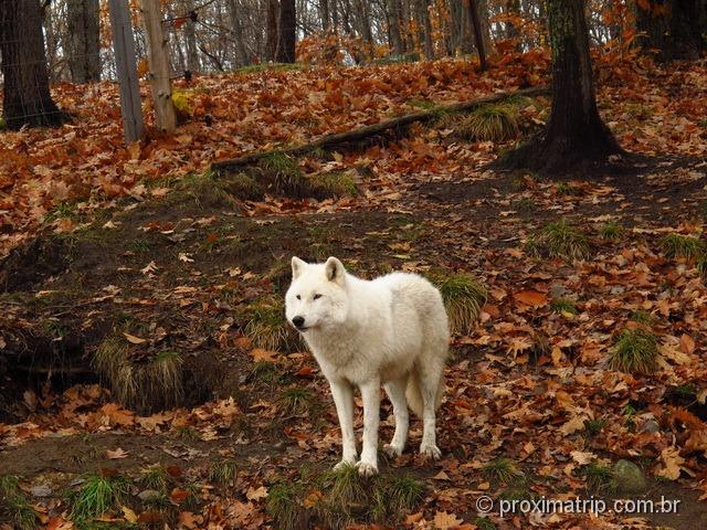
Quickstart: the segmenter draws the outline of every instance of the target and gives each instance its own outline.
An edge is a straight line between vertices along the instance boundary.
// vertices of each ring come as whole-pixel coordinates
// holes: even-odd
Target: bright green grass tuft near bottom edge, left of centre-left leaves
[[[120,475],[85,475],[78,489],[70,494],[71,519],[77,522],[119,509],[128,494],[128,480]]]

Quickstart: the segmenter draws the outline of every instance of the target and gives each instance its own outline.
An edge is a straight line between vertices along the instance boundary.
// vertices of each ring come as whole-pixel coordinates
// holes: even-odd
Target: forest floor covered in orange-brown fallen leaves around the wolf
[[[247,142],[251,150],[268,148],[279,134],[304,141],[401,114],[405,105],[511,89],[536,75],[540,59],[516,57],[485,77],[457,62],[410,66],[424,70],[426,76],[410,78],[426,80],[426,88],[392,81],[400,66],[366,75],[239,74],[221,80],[218,102],[208,93],[213,81],[203,80],[205,88],[192,96],[200,118],[207,103],[210,114],[228,115],[225,102],[236,98],[226,87],[242,80],[260,110],[294,108],[307,94],[320,115],[299,116],[297,125],[287,108],[276,108],[262,127],[243,128],[249,139],[234,132],[221,144],[193,118],[181,147],[157,138],[133,153],[108,148],[99,171],[89,165],[71,177],[101,150],[82,157],[77,144],[49,141],[49,131],[6,138],[46,135],[48,149],[66,149],[50,162],[49,150],[34,152],[38,138],[25,137],[27,158],[18,163],[33,174],[19,171],[4,188],[7,201],[27,206],[3,213],[10,227],[2,242],[12,250],[0,269],[0,495],[14,515],[29,518],[28,528],[38,518],[52,529],[701,528],[705,65],[602,66],[602,114],[626,149],[646,156],[623,174],[495,172],[485,163],[509,144],[463,141],[443,116],[393,141],[298,160],[307,174],[352,181],[356,193],[338,199],[244,200],[233,192],[238,176],[172,171],[179,165],[184,173],[203,171],[217,153],[239,155]],[[347,78],[349,92],[341,91]],[[292,86],[305,92],[292,95]],[[72,97],[65,106],[85,105]],[[515,105],[526,135],[547,116],[546,98]],[[76,127],[61,135],[99,141]],[[197,141],[199,135],[209,139]],[[61,186],[57,168],[68,179]],[[84,178],[98,173],[96,181]],[[548,242],[558,230],[561,242]],[[278,312],[292,255],[336,255],[366,277],[391,269],[468,273],[487,287],[478,324],[454,336],[439,415],[441,460],[415,454],[421,428],[413,421],[407,453],[383,458],[381,477],[327,474],[339,454],[334,404]],[[263,316],[272,308],[274,321]],[[654,373],[610,368],[626,328],[655,337]],[[104,353],[120,363],[102,364]],[[168,368],[145,368],[156,359]],[[137,388],[128,384],[138,379]],[[387,441],[391,410],[383,403]],[[356,425],[360,431],[360,407]],[[616,487],[620,459],[646,477],[641,492]],[[97,479],[115,494],[102,516],[87,515],[81,502]],[[482,496],[496,505],[479,518]],[[655,511],[661,497],[680,504],[676,513],[498,512],[502,500],[574,497],[652,499]],[[18,524],[10,517],[0,513],[7,521],[0,528]]]

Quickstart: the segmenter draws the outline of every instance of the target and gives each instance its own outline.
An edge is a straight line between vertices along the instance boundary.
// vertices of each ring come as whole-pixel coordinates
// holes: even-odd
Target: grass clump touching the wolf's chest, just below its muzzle
[[[263,299],[242,310],[243,332],[256,348],[265,350],[294,350],[299,337],[285,319],[282,300]]]

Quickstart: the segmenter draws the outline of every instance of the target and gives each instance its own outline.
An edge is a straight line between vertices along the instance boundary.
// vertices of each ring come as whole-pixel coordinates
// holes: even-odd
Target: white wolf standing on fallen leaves
[[[287,320],[302,333],[331,388],[344,457],[359,474],[378,473],[380,386],[393,405],[395,433],[383,449],[399,456],[408,438],[408,405],[423,420],[420,453],[439,458],[435,411],[444,391],[450,340],[440,292],[414,274],[373,280],[346,272],[336,257],[324,264],[292,258]],[[363,400],[363,448],[357,459],[354,386]]]

